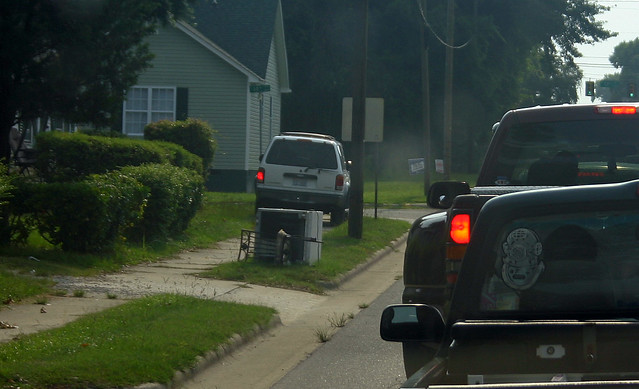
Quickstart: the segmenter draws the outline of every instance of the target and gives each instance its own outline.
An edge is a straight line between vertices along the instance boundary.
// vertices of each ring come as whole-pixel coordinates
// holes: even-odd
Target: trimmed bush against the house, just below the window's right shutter
[[[163,140],[176,143],[202,158],[203,171],[208,171],[217,147],[213,139],[215,131],[204,121],[187,119],[183,121],[160,120],[144,127],[144,139]]]

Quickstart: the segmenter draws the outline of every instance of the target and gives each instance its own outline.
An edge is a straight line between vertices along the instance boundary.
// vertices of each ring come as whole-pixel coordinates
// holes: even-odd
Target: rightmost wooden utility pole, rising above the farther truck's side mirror
[[[455,45],[455,0],[448,0],[446,13],[446,74],[444,76],[444,179],[450,179],[453,133],[453,46]]]

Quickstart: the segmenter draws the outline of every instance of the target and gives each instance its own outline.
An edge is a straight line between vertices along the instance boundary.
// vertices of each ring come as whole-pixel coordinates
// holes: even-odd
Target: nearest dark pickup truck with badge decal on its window
[[[639,387],[639,180],[495,196],[474,227],[445,318],[382,313],[439,345],[404,388]]]

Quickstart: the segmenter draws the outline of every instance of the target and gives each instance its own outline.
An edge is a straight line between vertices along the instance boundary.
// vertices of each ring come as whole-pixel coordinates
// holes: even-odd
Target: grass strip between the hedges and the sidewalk
[[[252,193],[205,192],[202,208],[186,232],[163,244],[142,247],[122,242],[114,252],[80,254],[51,247],[33,234],[27,246],[2,246],[0,269],[7,271],[0,274],[0,303],[19,302],[45,292],[40,288],[45,283],[43,277],[95,276],[118,271],[122,266],[169,258],[182,250],[209,248],[219,241],[239,237],[242,229],[252,229],[255,224],[254,201]],[[19,279],[11,280],[14,277]],[[27,287],[23,285],[25,283],[33,286]]]

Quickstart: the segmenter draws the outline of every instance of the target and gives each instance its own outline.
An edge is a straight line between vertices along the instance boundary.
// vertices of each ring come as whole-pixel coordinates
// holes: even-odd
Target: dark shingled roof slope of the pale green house
[[[265,78],[278,10],[279,0],[200,0],[193,9],[194,27]]]

